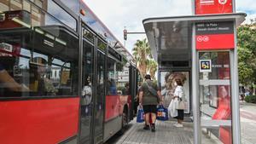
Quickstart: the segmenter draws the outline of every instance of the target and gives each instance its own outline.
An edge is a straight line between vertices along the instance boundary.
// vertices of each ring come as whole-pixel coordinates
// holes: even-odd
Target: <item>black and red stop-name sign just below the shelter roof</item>
[[[202,22],[195,25],[196,49],[234,49],[233,21]]]

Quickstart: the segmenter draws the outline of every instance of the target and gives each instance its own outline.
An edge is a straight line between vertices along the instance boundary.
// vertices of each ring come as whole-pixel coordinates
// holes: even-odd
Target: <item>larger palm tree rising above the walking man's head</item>
[[[132,55],[135,57],[136,60],[137,68],[142,78],[144,78],[147,74],[148,59],[152,58],[151,50],[149,48],[149,44],[146,38],[144,38],[142,41],[137,40],[137,42],[134,44],[132,52]]]

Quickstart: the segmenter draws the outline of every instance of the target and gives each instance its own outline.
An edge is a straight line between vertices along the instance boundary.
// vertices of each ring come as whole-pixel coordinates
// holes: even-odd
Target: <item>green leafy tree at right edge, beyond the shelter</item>
[[[256,23],[242,25],[237,30],[239,81],[244,85],[256,80]]]

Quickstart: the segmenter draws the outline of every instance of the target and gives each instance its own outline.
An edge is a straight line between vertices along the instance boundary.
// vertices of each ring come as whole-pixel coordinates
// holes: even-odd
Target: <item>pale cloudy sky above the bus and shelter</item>
[[[191,0],[84,0],[102,20],[119,42],[131,53],[137,39],[145,34],[128,35],[124,41],[123,30],[144,32],[143,20],[152,17],[180,16],[192,14]],[[236,12],[247,13],[247,22],[256,18],[255,0],[236,0]]]

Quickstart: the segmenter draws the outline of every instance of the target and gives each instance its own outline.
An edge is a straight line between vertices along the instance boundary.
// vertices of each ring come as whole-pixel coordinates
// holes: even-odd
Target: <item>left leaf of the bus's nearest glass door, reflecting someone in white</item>
[[[83,31],[86,31],[85,29]],[[86,38],[86,39],[85,39]],[[94,45],[85,36],[83,40],[82,95],[80,105],[80,139],[79,143],[90,144],[91,122],[93,112],[94,83]]]

